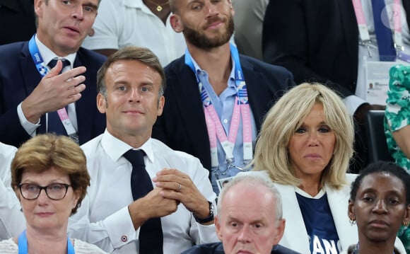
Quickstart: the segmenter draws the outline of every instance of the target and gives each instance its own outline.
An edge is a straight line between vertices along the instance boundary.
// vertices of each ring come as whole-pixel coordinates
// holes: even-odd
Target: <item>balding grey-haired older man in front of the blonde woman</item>
[[[223,187],[215,226],[221,242],[194,246],[182,254],[297,254],[278,245],[285,230],[281,195],[262,176],[239,174]]]

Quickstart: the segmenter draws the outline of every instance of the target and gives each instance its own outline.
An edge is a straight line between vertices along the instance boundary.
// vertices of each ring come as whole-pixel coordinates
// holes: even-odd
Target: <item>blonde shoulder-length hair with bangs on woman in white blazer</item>
[[[353,156],[353,120],[341,98],[320,83],[295,86],[269,110],[251,162],[254,171],[267,170],[275,183],[300,185],[291,165],[288,144],[315,103],[323,105],[324,121],[336,137],[334,155],[322,172],[320,187],[326,183],[339,189],[346,183],[348,163]]]

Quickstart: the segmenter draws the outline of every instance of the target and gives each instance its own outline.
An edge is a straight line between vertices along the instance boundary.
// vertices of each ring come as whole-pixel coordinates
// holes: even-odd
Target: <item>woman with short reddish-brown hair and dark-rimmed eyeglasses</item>
[[[105,253],[67,236],[69,216],[80,206],[88,185],[86,156],[69,137],[43,134],[25,142],[11,163],[11,187],[27,228],[1,241],[0,253]]]

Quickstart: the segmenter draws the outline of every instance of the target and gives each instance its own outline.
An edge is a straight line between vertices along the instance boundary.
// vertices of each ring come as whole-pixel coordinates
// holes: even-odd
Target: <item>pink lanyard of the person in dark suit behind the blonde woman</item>
[[[365,45],[368,49],[369,56],[372,57],[370,52],[370,35],[368,31],[368,25],[365,20],[365,13],[363,11],[363,6],[361,0],[352,0],[354,13],[356,14],[356,20],[358,23],[358,30],[361,39],[361,43]],[[384,0],[381,0],[384,1]],[[401,10],[400,0],[394,0],[393,4],[393,28],[394,28],[394,48],[400,57],[400,52],[404,51],[403,40],[402,40],[402,10]],[[373,13],[375,15],[375,13]]]

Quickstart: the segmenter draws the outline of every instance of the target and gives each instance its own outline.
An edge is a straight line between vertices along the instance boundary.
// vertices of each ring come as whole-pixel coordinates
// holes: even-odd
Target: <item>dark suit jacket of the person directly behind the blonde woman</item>
[[[402,1],[410,24],[410,1]],[[264,61],[289,69],[296,83],[356,92],[358,25],[350,0],[271,0],[262,31]]]

